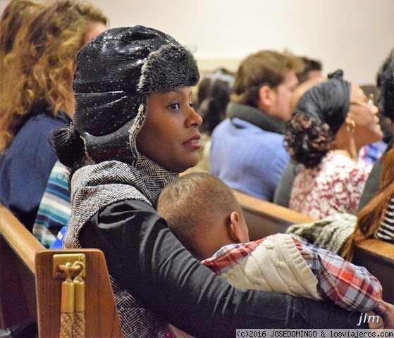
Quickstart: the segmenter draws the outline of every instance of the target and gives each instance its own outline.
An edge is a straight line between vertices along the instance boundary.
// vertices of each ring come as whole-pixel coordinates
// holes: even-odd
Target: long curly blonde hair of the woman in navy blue
[[[108,25],[101,10],[84,0],[48,1],[23,19],[3,60],[0,151],[11,144],[35,111],[56,116],[67,106],[75,56],[85,43],[90,23]]]

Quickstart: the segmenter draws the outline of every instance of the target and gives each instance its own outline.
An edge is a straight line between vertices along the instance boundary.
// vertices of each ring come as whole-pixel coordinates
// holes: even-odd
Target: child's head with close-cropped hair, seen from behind
[[[159,196],[157,211],[200,260],[221,246],[249,242],[242,209],[233,192],[209,173],[191,173],[169,183]]]

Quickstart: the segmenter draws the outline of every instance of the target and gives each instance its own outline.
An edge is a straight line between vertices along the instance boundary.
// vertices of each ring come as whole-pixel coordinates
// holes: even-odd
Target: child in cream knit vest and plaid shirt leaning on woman
[[[238,201],[214,175],[192,173],[171,182],[157,211],[193,256],[235,287],[324,299],[349,311],[381,301],[376,277],[331,251],[290,234],[249,242]]]

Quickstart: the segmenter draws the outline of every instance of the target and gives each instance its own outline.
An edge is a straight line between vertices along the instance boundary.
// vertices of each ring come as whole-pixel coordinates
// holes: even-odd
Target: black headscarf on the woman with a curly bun
[[[328,80],[307,90],[297,102],[294,113],[303,113],[327,123],[333,135],[345,122],[350,106],[350,83],[343,80],[342,70],[328,75]]]

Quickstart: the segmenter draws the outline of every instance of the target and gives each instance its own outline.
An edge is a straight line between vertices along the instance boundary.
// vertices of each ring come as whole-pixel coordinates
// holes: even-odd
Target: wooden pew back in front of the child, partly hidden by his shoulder
[[[296,223],[310,223],[314,218],[296,211],[233,191],[245,215],[250,239],[285,232]],[[362,265],[378,277],[383,286],[383,299],[394,303],[394,244],[368,239],[355,247],[352,263]]]

